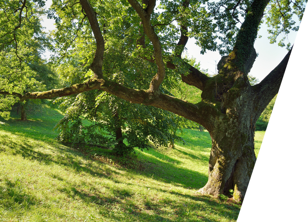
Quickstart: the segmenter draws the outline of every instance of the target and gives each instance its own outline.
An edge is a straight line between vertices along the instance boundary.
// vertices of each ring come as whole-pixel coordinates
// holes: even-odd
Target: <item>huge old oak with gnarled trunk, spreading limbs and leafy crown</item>
[[[15,17],[10,22],[15,23],[6,29],[11,34],[0,36],[1,44],[10,42],[16,46],[15,51],[15,36],[23,30],[18,21],[20,24],[26,13],[23,4],[30,8],[32,3],[20,1],[20,7],[12,10]],[[280,33],[297,31],[299,25],[292,16],[301,21],[305,7],[306,1],[301,0],[162,0],[160,10],[156,10],[156,0],[53,0],[48,16],[55,19],[57,27],[53,32],[55,61],[64,74],[71,75],[70,57],[78,55],[80,66],[87,68],[83,71],[87,79],[42,92],[23,93],[14,86],[7,90],[1,86],[0,94],[25,100],[102,90],[130,103],[154,106],[185,117],[206,128],[212,138],[209,177],[199,192],[219,195],[232,189],[234,199],[243,201],[256,163],[255,124],[278,93],[292,52],[290,44],[279,42],[289,52],[260,83],[251,86],[247,75],[257,56],[253,47],[257,32],[264,22],[262,17],[269,25],[271,42]],[[7,8],[1,13],[5,14]],[[8,24],[2,14],[1,24]],[[201,53],[219,50],[223,55],[216,76],[206,76],[182,59],[189,37],[196,39]],[[122,50],[127,56],[125,61],[132,64],[130,68],[121,70],[115,50]],[[13,48],[11,52],[15,51]],[[18,52],[15,55],[18,58]],[[140,60],[148,66],[134,66]],[[6,72],[9,75],[9,70]],[[137,88],[138,84],[132,87],[119,80],[131,76],[131,81],[145,81],[151,73],[147,88]],[[201,101],[193,104],[164,93],[164,87],[170,91],[178,81],[200,89]]]

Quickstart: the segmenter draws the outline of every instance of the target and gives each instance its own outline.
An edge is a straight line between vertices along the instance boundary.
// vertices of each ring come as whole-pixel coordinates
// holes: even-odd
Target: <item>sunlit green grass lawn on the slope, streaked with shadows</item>
[[[123,160],[54,140],[62,114],[47,106],[15,117],[0,120],[0,221],[237,220],[240,205],[196,193],[208,179],[208,132],[185,130],[185,145]]]

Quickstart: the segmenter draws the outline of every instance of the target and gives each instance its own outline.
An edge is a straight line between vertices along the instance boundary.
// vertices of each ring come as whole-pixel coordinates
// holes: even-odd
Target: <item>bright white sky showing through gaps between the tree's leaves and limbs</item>
[[[46,7],[49,8],[52,0],[47,0]],[[157,3],[156,5],[159,5]],[[42,25],[46,27],[45,31],[53,30],[55,26],[53,25],[53,19],[44,18]],[[295,42],[297,32],[291,31],[288,35],[288,40],[291,42],[291,46]],[[255,76],[259,81],[261,81],[267,74],[269,74],[285,57],[287,50],[278,46],[278,43],[270,44],[270,40],[267,38],[269,34],[267,33],[267,26],[265,23],[262,24],[261,29],[259,30],[258,35],[261,35],[261,38],[257,38],[255,42],[256,52],[259,53],[259,56],[256,58],[256,61],[250,71],[250,75]],[[281,36],[282,37],[282,36]],[[280,40],[280,39],[279,39]],[[279,40],[277,42],[279,42]],[[215,60],[219,62],[221,56],[219,52],[207,51],[204,55],[200,54],[201,48],[195,44],[195,39],[189,39],[186,48],[189,57],[193,56],[196,58],[196,61],[201,64],[202,69],[208,69],[209,74],[215,73]],[[286,42],[287,44],[288,42]],[[50,53],[46,52],[45,57],[49,57]]]

